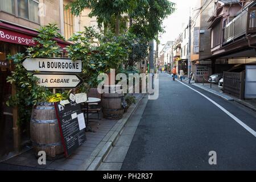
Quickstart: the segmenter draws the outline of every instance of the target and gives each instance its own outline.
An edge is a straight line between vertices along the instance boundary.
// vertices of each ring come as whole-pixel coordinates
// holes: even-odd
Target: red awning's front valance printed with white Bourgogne
[[[0,28],[0,40],[4,42],[35,46],[36,42],[32,38],[34,38],[34,36]]]

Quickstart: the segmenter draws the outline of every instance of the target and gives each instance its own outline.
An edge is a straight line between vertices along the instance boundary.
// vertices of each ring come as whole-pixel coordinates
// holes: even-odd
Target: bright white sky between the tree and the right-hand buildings
[[[189,19],[189,9],[193,7],[193,3],[196,0],[170,0],[171,2],[176,3],[176,11],[174,14],[168,16],[164,20],[163,26],[166,33],[160,36],[160,45],[159,50],[162,50],[162,44],[165,44],[169,40],[175,40],[179,36],[182,27],[185,26],[185,23],[188,23]]]

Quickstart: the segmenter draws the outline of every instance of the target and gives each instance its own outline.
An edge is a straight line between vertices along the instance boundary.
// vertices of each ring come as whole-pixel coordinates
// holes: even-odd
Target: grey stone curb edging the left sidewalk
[[[127,121],[129,121],[131,115],[133,115],[134,111],[138,108],[139,104],[141,104],[141,101],[145,94],[142,94],[140,98],[138,98],[138,102],[136,105],[131,106],[125,117],[120,119],[109,131],[108,134],[102,139],[102,141],[98,144],[96,149],[92,152],[90,157],[82,163],[78,170],[79,171],[96,171],[96,169],[100,166],[110,149],[114,146],[115,142],[117,141],[119,134],[123,130],[123,127],[125,127]]]

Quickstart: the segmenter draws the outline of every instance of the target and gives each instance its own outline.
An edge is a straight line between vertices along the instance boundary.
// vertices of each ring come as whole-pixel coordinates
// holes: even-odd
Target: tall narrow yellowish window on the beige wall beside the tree
[[[73,16],[71,14],[71,10],[65,10],[64,6],[64,32],[65,39],[71,38],[73,34]]]

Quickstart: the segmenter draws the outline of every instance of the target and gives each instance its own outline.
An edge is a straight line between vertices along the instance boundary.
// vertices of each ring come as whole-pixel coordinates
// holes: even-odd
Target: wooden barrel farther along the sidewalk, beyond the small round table
[[[102,112],[106,119],[121,119],[124,109],[122,107],[123,94],[104,93],[102,94]]]

